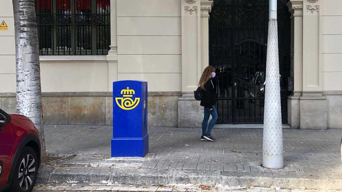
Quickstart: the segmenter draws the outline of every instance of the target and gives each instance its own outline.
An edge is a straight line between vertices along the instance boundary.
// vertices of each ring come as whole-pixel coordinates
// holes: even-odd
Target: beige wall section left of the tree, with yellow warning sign
[[[15,92],[15,44],[12,1],[3,1],[0,6],[0,22],[3,20],[8,30],[0,30],[0,92]]]

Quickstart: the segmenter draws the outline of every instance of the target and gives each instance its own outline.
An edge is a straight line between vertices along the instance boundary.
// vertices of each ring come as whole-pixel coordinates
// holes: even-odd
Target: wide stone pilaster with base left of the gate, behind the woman
[[[204,9],[203,15],[208,15],[211,3],[212,1],[208,0],[181,0],[182,97],[178,99],[178,127],[200,127],[203,119],[203,108],[199,105],[200,102],[195,100],[194,91],[201,77],[202,66],[208,66],[208,47],[201,49],[202,44],[208,46],[209,39],[208,35],[201,36],[201,32],[208,34],[209,26],[204,18],[202,24],[201,7]],[[208,17],[206,19],[208,20]]]

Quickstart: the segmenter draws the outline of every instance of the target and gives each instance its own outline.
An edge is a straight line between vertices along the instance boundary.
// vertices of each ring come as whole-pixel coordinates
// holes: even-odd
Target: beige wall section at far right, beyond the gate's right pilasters
[[[321,9],[324,91],[342,90],[342,1],[325,0]]]

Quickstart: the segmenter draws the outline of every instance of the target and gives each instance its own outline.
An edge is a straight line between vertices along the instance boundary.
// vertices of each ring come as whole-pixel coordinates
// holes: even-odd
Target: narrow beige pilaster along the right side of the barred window
[[[113,81],[118,80],[117,0],[110,0],[110,50],[108,51],[108,91],[113,91]]]

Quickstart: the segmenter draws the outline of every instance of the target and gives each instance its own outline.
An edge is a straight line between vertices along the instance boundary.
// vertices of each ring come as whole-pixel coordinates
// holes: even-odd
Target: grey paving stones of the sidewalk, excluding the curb
[[[49,154],[82,154],[64,160],[64,164],[83,165],[110,158],[111,126],[44,125],[44,132]],[[152,169],[342,175],[341,129],[322,132],[284,128],[285,167],[279,170],[261,166],[262,128],[214,128],[216,142],[200,141],[201,130],[197,128],[149,127],[148,134],[153,155],[139,159],[141,165],[133,158],[116,162],[117,167],[135,162],[134,166]]]

